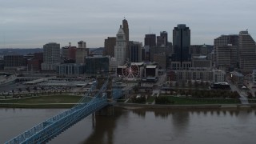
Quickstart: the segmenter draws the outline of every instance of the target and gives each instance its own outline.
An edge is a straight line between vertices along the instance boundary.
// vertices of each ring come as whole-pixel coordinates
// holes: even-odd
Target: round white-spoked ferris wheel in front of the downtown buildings
[[[122,68],[122,76],[126,79],[134,80],[138,78],[139,68],[137,65],[131,65],[130,62],[127,62]]]

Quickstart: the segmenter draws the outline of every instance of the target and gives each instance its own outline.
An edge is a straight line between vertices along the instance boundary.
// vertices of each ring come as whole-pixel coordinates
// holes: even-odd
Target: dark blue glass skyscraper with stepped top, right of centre
[[[178,24],[173,30],[173,47],[174,54],[172,54],[172,63],[175,62],[175,69],[186,69],[191,66],[190,55],[190,28],[185,24]]]

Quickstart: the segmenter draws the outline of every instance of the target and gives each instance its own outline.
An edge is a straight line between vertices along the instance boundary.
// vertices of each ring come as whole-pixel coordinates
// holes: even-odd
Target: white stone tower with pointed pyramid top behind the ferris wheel
[[[120,26],[116,38],[116,45],[114,46],[114,58],[116,58],[119,62],[119,66],[123,65],[126,62],[126,52],[126,34],[122,30],[122,26]]]

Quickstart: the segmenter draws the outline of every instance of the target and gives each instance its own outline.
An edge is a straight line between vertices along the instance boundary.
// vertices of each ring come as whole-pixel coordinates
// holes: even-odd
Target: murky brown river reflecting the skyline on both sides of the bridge
[[[63,109],[0,109],[0,143]],[[124,110],[84,118],[49,143],[254,144],[256,110]]]

